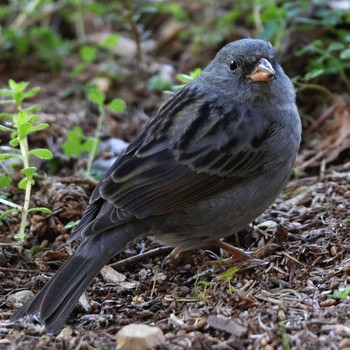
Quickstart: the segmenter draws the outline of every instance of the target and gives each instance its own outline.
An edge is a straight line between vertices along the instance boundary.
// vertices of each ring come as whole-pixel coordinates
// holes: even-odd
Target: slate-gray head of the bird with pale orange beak
[[[197,78],[242,103],[294,102],[295,92],[269,42],[242,39],[224,46]]]

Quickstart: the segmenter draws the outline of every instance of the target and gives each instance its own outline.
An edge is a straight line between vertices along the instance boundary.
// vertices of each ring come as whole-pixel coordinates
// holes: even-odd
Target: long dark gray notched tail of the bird
[[[57,334],[101,268],[138,236],[125,232],[104,232],[85,238],[74,255],[32,300],[11,317],[11,321],[38,314],[46,332]]]

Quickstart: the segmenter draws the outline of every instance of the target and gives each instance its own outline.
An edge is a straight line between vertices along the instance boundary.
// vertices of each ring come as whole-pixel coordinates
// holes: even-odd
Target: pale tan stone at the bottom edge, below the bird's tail
[[[117,333],[117,350],[146,350],[165,342],[159,327],[129,324]]]

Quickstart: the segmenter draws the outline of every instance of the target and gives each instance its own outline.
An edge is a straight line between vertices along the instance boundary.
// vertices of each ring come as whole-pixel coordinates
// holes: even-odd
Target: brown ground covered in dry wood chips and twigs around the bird
[[[350,349],[350,156],[344,139],[334,143],[340,131],[349,131],[350,108],[335,101],[323,119],[310,122],[307,94],[299,96],[307,139],[299,171],[252,228],[229,240],[259,250],[260,259],[232,263],[209,247],[162,266],[170,250],[140,241],[111,262],[120,281],[98,275],[88,302],[75,308],[57,337],[28,321],[8,324],[16,308],[9,297],[20,290],[37,293],[74,248],[66,244],[65,225],[79,219],[95,182],[80,175],[86,159],[63,156],[60,145],[74,125],[93,130],[96,110],[86,106],[79,82],[68,73],[1,69],[2,84],[12,77],[41,86],[31,103],[42,106],[40,118],[51,126],[30,142],[50,147],[59,171],[34,188],[33,204],[54,211],[31,217],[24,248],[40,246],[34,258],[25,259],[13,240],[18,217],[0,226],[0,349],[113,349],[116,333],[130,323],[160,327],[166,342],[158,349]],[[128,142],[147,120],[144,112],[151,114],[166,97],[149,92],[135,76],[113,84],[110,94],[117,91],[129,108],[122,116],[107,115],[102,140]],[[110,155],[107,149],[98,158]],[[50,173],[45,164],[37,166]],[[15,186],[11,194],[21,200]]]

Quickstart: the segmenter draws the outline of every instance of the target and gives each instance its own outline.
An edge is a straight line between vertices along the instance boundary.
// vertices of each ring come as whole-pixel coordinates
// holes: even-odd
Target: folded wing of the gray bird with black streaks
[[[261,145],[275,126],[248,125],[249,111],[209,96],[188,86],[159,109],[98,184],[76,232],[179,210],[263,171]]]

